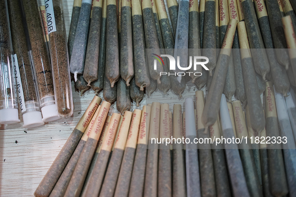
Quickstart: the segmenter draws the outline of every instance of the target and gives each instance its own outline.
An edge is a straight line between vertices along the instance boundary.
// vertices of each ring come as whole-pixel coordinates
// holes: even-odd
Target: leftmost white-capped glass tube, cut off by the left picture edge
[[[0,0],[0,16],[0,123],[10,124],[21,120],[16,98],[7,0]]]

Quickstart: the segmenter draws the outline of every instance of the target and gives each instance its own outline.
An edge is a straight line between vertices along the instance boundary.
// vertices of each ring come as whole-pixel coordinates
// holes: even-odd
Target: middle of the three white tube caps
[[[37,126],[42,126],[44,121],[42,121],[42,115],[40,111],[29,111],[23,114],[24,128],[33,128]]]

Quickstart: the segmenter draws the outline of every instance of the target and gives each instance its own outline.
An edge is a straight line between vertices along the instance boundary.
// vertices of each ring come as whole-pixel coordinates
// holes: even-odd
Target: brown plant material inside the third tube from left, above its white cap
[[[55,95],[52,67],[43,37],[42,22],[38,5],[35,0],[23,0],[24,11],[32,47],[33,61],[41,104],[47,96]],[[43,106],[41,106],[43,107]]]

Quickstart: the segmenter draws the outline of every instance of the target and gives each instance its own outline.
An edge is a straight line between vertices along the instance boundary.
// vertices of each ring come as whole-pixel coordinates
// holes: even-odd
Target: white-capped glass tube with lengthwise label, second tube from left
[[[9,0],[10,24],[14,48],[14,65],[17,82],[17,92],[23,114],[25,128],[41,126],[42,114],[39,105],[39,93],[36,87],[32,61],[26,42],[26,33],[22,19],[22,9],[19,0]],[[24,20],[24,23],[26,21]]]

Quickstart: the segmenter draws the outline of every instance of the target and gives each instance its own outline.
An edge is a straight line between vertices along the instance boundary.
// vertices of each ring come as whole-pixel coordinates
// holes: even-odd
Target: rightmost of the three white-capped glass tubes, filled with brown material
[[[37,0],[21,1],[28,25],[27,42],[34,63],[43,121],[54,121],[60,117],[55,102],[52,67],[44,41],[38,2]]]

